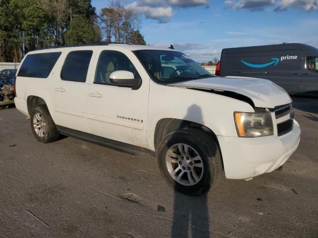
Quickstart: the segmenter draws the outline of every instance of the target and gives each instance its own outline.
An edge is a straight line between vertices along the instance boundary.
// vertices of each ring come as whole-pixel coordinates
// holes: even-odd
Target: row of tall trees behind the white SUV
[[[100,15],[91,0],[0,0],[0,62],[20,62],[29,51],[102,38],[145,45],[140,25],[119,0]]]

